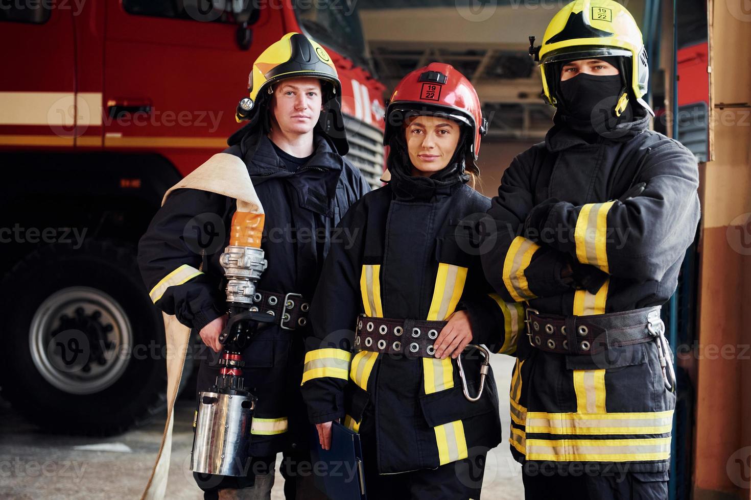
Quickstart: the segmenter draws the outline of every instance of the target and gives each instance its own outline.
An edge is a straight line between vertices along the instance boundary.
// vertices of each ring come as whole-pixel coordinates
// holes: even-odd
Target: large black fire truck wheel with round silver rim
[[[164,325],[131,246],[40,247],[0,297],[2,395],[34,424],[109,436],[165,418]]]

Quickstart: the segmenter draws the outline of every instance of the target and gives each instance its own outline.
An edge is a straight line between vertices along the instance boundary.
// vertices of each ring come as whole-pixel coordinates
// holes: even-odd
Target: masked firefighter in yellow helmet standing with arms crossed
[[[647,129],[647,56],[622,5],[574,1],[530,41],[554,126],[505,171],[482,256],[526,308],[511,453],[528,499],[667,499],[675,379],[659,311],[695,236],[698,166]]]

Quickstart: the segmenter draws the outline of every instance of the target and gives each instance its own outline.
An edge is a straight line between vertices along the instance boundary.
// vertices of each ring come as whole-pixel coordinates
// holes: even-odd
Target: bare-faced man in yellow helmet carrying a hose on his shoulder
[[[291,82],[297,87],[288,87]],[[309,82],[313,83],[307,88]],[[195,477],[205,498],[268,498],[274,460],[282,451],[287,498],[316,498],[312,485],[302,490],[299,481],[303,476],[289,478],[297,463],[309,460],[310,424],[299,389],[303,337],[309,329],[306,315],[330,235],[369,186],[342,157],[348,143],[339,107],[341,84],[333,62],[318,43],[297,33],[273,43],[253,64],[249,91],[249,98],[237,108],[237,120],[249,120],[249,124],[228,139],[229,148],[222,154],[168,192],[140,240],[138,262],[157,307],[182,325],[201,331],[202,337],[207,325],[219,325],[216,332],[221,331],[224,323],[217,319],[225,315],[227,305],[219,256],[228,245],[236,210],[236,200],[228,193],[234,184],[252,181],[265,208],[261,249],[268,261],[254,301],[261,311],[270,311],[276,318],[243,352],[245,387],[258,397],[250,442],[254,462],[246,478]],[[310,117],[305,133],[300,132],[311,141],[312,154],[307,157],[284,151],[271,140],[282,129],[282,117],[275,107],[282,98],[294,99],[290,109],[297,113],[295,123],[305,121],[306,114]],[[309,107],[316,98],[321,100],[321,109]],[[216,184],[220,166],[227,161],[240,162],[242,172],[224,179],[225,185],[219,189],[205,187],[206,179]],[[211,238],[217,241],[212,243]],[[208,345],[213,351],[221,349],[216,337]],[[218,355],[210,349],[205,352],[210,355],[201,361],[198,392],[207,391],[219,373]],[[241,489],[243,492],[236,491]]]

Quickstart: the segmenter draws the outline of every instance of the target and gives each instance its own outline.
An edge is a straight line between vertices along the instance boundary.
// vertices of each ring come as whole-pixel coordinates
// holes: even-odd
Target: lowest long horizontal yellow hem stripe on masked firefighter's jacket
[[[670,438],[526,439],[526,460],[638,462],[668,460]]]

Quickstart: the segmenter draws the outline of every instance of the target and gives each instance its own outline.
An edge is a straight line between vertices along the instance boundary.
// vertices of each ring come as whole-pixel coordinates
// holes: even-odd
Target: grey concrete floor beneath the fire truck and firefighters
[[[508,451],[508,386],[513,358],[493,356],[504,442],[490,451],[483,498],[523,498],[520,466]],[[179,401],[167,499],[201,499],[189,471],[193,404]],[[41,433],[0,401],[0,500],[137,499],[151,472],[164,423],[155,421],[107,439]],[[282,500],[282,478],[271,498]]]

